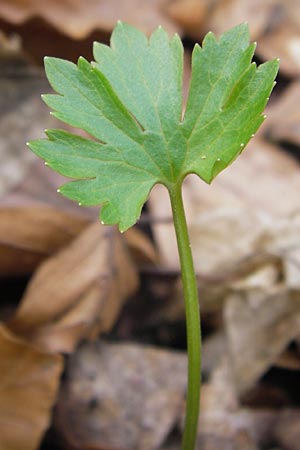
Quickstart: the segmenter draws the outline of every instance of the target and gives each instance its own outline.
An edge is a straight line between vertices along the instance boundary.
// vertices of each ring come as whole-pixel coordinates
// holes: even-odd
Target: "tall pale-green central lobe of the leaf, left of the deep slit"
[[[94,57],[95,67],[143,127],[162,131],[168,138],[182,113],[183,47],[179,37],[170,41],[159,27],[148,41],[135,28],[118,23],[111,48],[95,43]]]

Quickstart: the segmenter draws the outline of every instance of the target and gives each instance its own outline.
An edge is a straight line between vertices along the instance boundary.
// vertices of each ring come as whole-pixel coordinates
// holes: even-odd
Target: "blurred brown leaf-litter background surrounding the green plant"
[[[298,0],[0,0],[0,449],[179,450],[185,318],[164,188],[120,235],[26,148],[65,127],[43,57],[92,59],[117,20],[190,56],[247,21],[280,58],[267,120],[212,184],[184,185],[203,328],[198,450],[300,450]]]

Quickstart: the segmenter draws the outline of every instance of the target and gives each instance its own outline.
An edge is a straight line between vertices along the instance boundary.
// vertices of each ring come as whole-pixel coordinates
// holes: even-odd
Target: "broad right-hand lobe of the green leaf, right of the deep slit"
[[[254,45],[246,46],[247,42],[247,26],[242,24],[225,33],[219,42],[209,34],[204,47],[195,49],[183,123],[187,139],[183,170],[186,174],[196,173],[207,183],[241,153],[256,133],[274,86],[278,61],[256,68],[251,63]]]

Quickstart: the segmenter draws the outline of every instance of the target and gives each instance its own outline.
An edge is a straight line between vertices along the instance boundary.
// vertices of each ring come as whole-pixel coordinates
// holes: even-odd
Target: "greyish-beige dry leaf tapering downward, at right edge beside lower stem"
[[[231,294],[225,325],[237,388],[245,392],[299,335],[299,291],[284,286]]]

